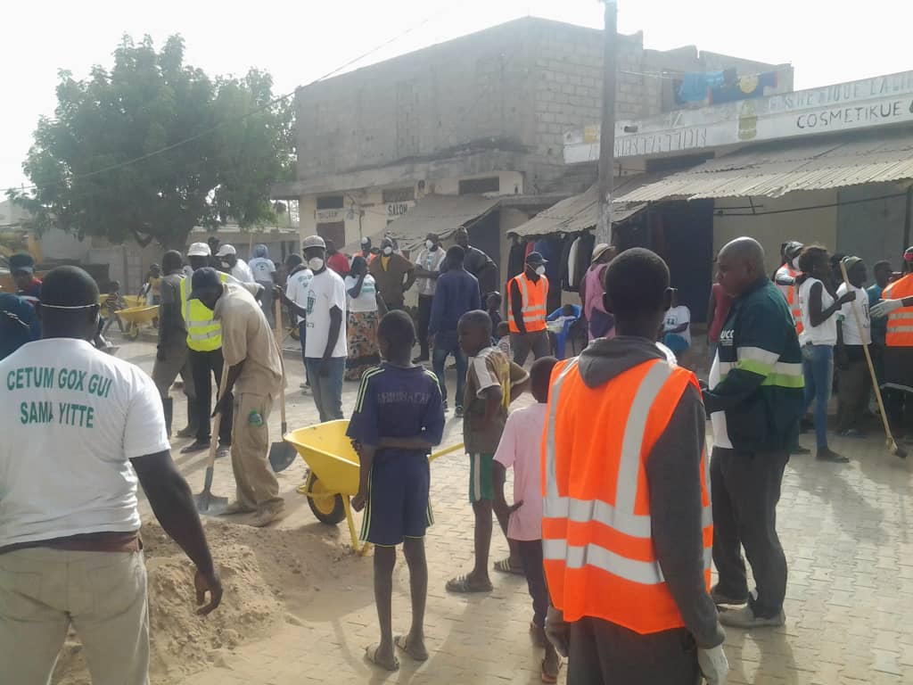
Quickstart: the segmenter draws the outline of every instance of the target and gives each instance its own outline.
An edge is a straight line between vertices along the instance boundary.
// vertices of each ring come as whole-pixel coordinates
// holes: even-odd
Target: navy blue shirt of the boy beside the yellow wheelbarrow
[[[436,375],[424,366],[404,369],[386,363],[366,371],[346,435],[363,445],[377,445],[382,437],[422,437],[439,444],[444,400]],[[404,452],[415,450],[382,449],[376,458]]]

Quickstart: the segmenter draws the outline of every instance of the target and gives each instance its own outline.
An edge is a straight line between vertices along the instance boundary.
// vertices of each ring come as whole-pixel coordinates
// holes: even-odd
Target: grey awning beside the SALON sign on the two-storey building
[[[446,240],[457,228],[469,226],[487,216],[499,202],[500,198],[485,195],[425,195],[383,232],[393,233],[403,249],[415,247],[429,233],[436,233],[441,240]],[[376,239],[372,237],[375,245],[383,237],[383,232]]]

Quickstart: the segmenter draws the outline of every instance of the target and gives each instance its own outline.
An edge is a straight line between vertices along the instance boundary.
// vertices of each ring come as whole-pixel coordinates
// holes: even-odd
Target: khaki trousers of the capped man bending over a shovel
[[[250,511],[281,509],[279,483],[269,466],[269,413],[272,395],[235,395],[235,432],[231,443],[231,465],[235,471],[237,502]],[[252,412],[260,415],[260,425],[251,424]]]

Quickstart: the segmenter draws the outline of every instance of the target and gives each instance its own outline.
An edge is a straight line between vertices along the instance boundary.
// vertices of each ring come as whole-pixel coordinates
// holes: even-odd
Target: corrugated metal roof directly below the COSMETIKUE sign
[[[624,202],[715,197],[781,197],[801,190],[913,178],[913,132],[855,134],[829,141],[742,148],[618,198]]]

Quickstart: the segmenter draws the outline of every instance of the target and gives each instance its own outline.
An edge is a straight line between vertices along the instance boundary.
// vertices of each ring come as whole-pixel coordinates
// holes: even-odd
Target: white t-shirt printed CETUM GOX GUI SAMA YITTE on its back
[[[152,378],[89,342],[0,362],[0,547],[140,528],[131,458],[169,449]]]

